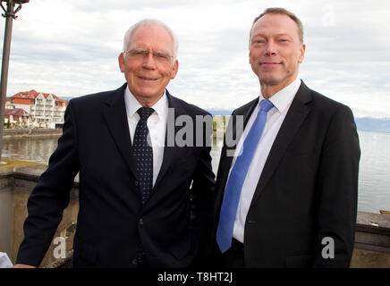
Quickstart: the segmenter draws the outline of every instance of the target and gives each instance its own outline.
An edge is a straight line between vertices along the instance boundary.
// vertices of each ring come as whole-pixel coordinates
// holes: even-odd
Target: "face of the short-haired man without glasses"
[[[288,15],[267,13],[250,33],[250,65],[259,77],[263,96],[271,97],[296,79],[305,45]]]

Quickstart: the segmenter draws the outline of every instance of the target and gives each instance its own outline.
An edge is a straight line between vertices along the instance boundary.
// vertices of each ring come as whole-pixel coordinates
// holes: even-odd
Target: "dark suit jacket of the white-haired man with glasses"
[[[126,87],[70,101],[63,136],[30,195],[17,263],[39,265],[79,171],[74,266],[134,267],[140,243],[151,267],[189,266],[199,254],[214,203],[210,147],[165,147],[153,194],[141,206]],[[166,95],[175,118],[186,114],[195,122],[196,115],[207,114]]]

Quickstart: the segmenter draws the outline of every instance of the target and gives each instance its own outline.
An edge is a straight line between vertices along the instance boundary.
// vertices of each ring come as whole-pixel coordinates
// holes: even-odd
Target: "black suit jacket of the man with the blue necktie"
[[[259,98],[234,110],[244,124]],[[216,225],[232,156],[216,176]],[[244,229],[246,267],[347,267],[357,214],[359,139],[349,107],[301,82],[276,136]],[[216,225],[215,230],[216,231]],[[335,258],[324,259],[335,242]],[[324,243],[324,244],[322,244]],[[217,248],[217,247],[216,247]]]

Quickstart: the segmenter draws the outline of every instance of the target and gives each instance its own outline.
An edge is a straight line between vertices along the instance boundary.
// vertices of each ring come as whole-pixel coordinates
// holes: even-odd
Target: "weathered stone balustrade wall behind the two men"
[[[17,172],[0,172],[0,251],[6,252],[14,263],[23,239],[22,226],[27,216],[27,200],[30,191],[38,182],[38,176],[46,167],[25,167]],[[65,237],[66,251],[72,252],[74,227],[79,212],[78,177],[71,191],[71,202],[64,211],[55,237]],[[60,265],[53,256],[52,241],[41,267]],[[356,224],[355,248],[352,254],[352,268],[390,268],[390,214],[359,212]]]

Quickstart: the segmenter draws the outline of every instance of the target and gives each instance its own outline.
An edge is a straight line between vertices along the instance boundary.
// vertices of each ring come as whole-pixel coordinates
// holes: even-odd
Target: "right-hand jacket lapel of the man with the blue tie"
[[[310,105],[308,105],[311,101],[310,93],[310,89],[307,88],[302,81],[301,87],[298,89],[298,92],[293,99],[293,103],[284,118],[284,122],[277,133],[274,144],[269,151],[266,164],[264,165],[250,206],[259,198],[259,194],[266,187],[267,182],[275,172],[277,165],[284,156],[284,152],[293,140],[295,133],[300,129],[301,123],[309,114],[309,111],[311,110]]]

